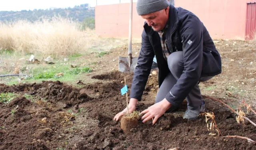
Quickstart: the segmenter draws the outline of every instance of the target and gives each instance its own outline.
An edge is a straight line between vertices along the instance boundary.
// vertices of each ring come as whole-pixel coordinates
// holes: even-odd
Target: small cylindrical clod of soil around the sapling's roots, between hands
[[[120,121],[121,129],[124,133],[129,132],[132,128],[135,128],[138,125],[137,118],[131,118],[127,116],[123,116]]]

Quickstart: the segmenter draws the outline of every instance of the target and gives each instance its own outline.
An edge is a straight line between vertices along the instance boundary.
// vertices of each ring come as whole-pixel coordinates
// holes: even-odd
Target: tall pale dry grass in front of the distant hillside
[[[94,30],[82,31],[80,27],[79,22],[60,17],[34,23],[0,22],[0,49],[61,57],[99,46],[106,50],[126,44],[124,39],[100,38]]]

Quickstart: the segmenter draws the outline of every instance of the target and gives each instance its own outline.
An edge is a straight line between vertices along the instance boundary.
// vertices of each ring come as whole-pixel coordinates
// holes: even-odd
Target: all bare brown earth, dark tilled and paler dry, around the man
[[[223,72],[200,83],[202,94],[218,98],[234,108],[245,99],[255,108],[256,45],[250,41],[215,42],[222,55]],[[0,103],[0,150],[256,149],[256,143],[244,139],[209,135],[204,116],[198,120],[183,119],[186,102],[178,111],[164,114],[156,125],[152,126],[151,120],[145,124],[139,120],[136,128],[124,134],[120,122],[113,121],[113,117],[126,107],[126,97],[121,96],[120,89],[128,74],[112,71],[118,70],[118,66],[109,63],[122,54],[127,54],[124,47],[92,60],[98,64],[88,77],[97,80],[93,83],[83,80],[85,84],[81,88],[58,81],[13,86],[0,84],[1,93],[20,95],[9,104]],[[126,82],[130,87],[132,76]],[[157,75],[152,74],[142,101],[138,103],[138,111],[154,104],[157,90]],[[28,100],[24,94],[33,98]],[[246,136],[256,140],[256,127],[250,122],[238,124],[236,115],[228,108],[208,98],[205,101],[206,112],[214,112],[224,136]],[[256,122],[255,115],[248,115],[248,118]]]

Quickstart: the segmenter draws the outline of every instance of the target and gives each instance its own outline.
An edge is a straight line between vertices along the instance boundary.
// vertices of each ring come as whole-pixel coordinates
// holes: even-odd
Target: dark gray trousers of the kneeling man
[[[182,51],[173,52],[168,56],[167,59],[168,68],[170,69],[170,74],[166,76],[164,82],[159,88],[159,91],[156,95],[156,103],[162,101],[166,94],[170,92],[174,84],[176,84],[177,80],[180,78],[183,70],[184,70],[184,62]],[[201,77],[200,82],[204,82],[210,80],[213,76]],[[203,98],[200,92],[200,88],[198,84],[192,88],[188,96],[186,97],[188,102],[188,109],[198,108],[202,104]]]

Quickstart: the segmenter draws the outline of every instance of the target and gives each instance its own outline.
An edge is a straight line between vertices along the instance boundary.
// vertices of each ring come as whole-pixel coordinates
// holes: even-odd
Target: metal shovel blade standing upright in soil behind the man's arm
[[[119,70],[121,72],[134,72],[135,67],[137,66],[138,57],[132,58],[131,65],[129,67],[129,61],[127,57],[119,57]]]

